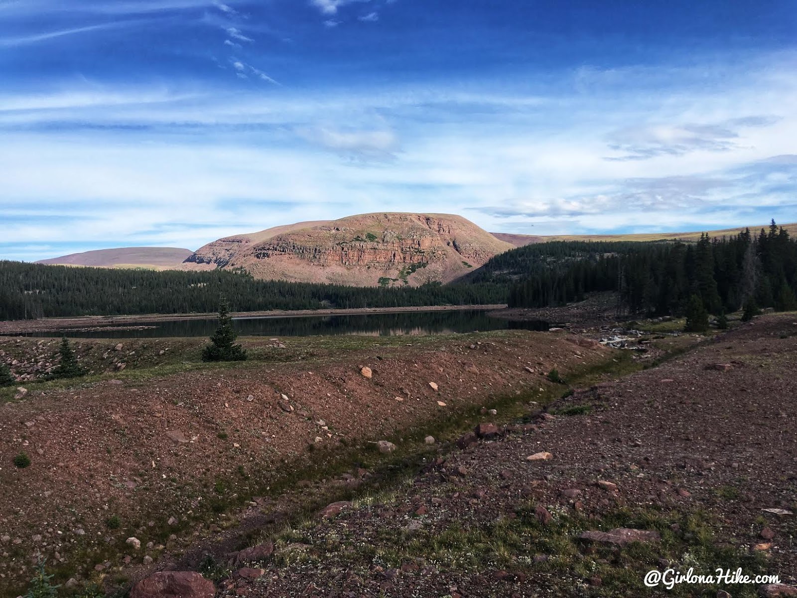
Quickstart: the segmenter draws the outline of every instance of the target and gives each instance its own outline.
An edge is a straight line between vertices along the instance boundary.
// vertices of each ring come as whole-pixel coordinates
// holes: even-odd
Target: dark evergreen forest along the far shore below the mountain
[[[258,281],[245,271],[75,268],[0,261],[0,320],[232,311],[505,303],[488,283],[379,288]]]

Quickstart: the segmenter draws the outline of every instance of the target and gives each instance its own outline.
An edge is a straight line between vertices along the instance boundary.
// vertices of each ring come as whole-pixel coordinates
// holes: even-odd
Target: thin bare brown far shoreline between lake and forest
[[[351,316],[369,313],[425,313],[447,312],[468,309],[497,311],[506,309],[505,304],[496,305],[424,305],[418,307],[366,307],[351,309],[292,309],[265,310],[257,312],[235,312],[234,318],[255,317],[312,317],[312,316]],[[137,316],[81,316],[49,317],[39,320],[0,321],[0,334],[14,335],[29,332],[59,332],[77,328],[105,329],[116,326],[143,325],[159,321],[197,320],[215,317],[216,313],[152,313]]]

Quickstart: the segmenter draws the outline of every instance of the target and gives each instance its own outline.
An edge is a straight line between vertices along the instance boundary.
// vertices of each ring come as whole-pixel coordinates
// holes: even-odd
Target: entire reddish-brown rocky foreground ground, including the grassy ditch
[[[676,340],[289,344],[253,349],[292,363],[31,391],[0,409],[0,574],[13,587],[39,550],[76,585],[214,582],[179,573],[133,598],[178,582],[186,596],[791,595],[642,584],[668,567],[797,583],[795,315]],[[19,450],[31,466],[10,466]]]

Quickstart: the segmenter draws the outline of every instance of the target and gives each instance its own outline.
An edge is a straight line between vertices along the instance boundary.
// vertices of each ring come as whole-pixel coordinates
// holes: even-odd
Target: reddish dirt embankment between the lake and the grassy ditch
[[[68,576],[96,566],[124,577],[128,563],[182,550],[207,525],[223,525],[226,509],[263,491],[286,463],[383,438],[400,448],[410,428],[496,397],[542,394],[557,386],[550,370],[566,374],[612,353],[574,341],[516,331],[411,343],[246,339],[254,360],[214,366],[183,363],[198,347],[163,354],[162,345],[125,340],[128,358],[154,352],[170,361],[128,368],[118,380],[31,384],[24,399],[0,407],[0,583],[29,578],[37,553]],[[38,342],[6,341],[14,350]],[[77,350],[115,353],[109,342],[83,340]],[[22,453],[31,464],[18,468]],[[141,548],[125,545],[128,537]]]

